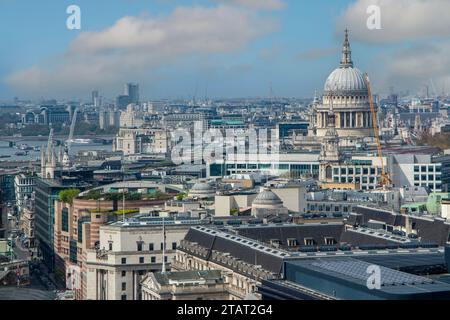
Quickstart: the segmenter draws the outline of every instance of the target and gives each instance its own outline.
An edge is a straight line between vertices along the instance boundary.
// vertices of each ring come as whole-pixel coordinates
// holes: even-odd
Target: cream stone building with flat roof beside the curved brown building
[[[148,272],[169,270],[180,241],[195,219],[142,218],[100,227],[98,249],[86,252],[88,300],[140,300],[140,282]]]

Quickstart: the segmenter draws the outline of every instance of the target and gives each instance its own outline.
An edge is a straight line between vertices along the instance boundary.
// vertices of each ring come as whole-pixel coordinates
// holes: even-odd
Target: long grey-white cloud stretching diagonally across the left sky
[[[80,34],[59,58],[10,75],[7,83],[34,95],[75,95],[119,85],[180,59],[232,53],[276,30],[247,10],[179,7],[167,17],[128,16],[100,32]]]

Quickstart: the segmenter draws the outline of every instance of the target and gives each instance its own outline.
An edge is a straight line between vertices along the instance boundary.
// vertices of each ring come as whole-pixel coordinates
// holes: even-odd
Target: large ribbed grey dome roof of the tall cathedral
[[[325,91],[367,91],[364,74],[357,68],[340,67],[325,82]]]

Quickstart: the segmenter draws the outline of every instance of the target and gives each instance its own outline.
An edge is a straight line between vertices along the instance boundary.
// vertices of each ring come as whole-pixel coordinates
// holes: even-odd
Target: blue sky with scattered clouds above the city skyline
[[[70,5],[81,29],[69,30]],[[367,8],[380,8],[370,30]],[[448,0],[0,0],[0,99],[311,97],[349,29],[373,91],[450,90]],[[448,87],[448,88],[447,88]]]

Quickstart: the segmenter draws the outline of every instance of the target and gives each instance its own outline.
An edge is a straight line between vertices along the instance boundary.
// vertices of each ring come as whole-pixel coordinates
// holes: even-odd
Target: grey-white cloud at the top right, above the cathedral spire
[[[367,8],[381,9],[381,30],[369,30]],[[357,0],[339,17],[339,32],[348,27],[361,42],[411,41],[450,35],[449,0]]]

